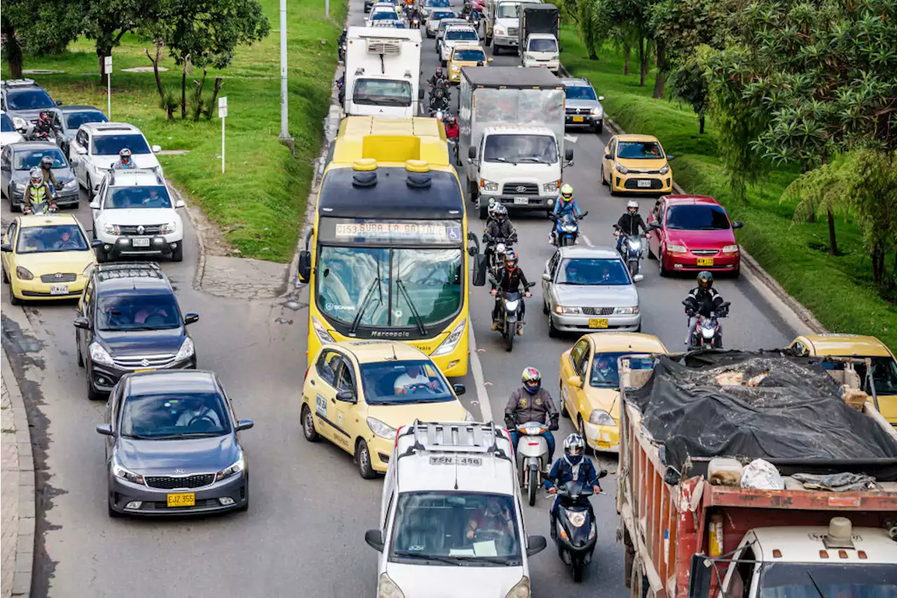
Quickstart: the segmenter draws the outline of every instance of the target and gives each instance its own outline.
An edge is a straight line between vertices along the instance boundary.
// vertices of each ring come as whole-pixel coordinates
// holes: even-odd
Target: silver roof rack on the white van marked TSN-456
[[[509,454],[499,448],[496,442],[496,438],[501,435],[501,429],[495,427],[495,422],[488,424],[457,421],[422,422],[415,419],[414,423],[402,429],[398,438],[409,435],[414,436],[414,444],[409,446],[405,453],[398,455],[396,461],[418,451],[489,453],[500,459],[511,461]],[[396,438],[396,443],[398,438]]]

